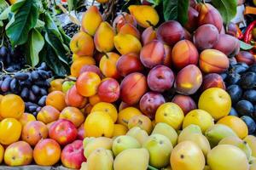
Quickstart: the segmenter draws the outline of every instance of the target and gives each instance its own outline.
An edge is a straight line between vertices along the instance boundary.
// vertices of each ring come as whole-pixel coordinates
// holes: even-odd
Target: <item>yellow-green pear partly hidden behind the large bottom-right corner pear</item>
[[[236,133],[230,127],[223,124],[215,124],[208,128],[205,135],[209,140],[212,148],[216,146],[221,139],[229,136],[237,137]]]

